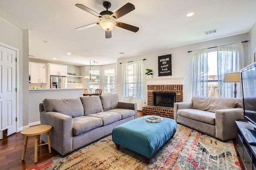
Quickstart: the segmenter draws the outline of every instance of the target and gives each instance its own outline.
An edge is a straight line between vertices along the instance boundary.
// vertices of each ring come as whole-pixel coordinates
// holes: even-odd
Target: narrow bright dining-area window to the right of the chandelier
[[[115,69],[103,71],[103,93],[115,93]]]

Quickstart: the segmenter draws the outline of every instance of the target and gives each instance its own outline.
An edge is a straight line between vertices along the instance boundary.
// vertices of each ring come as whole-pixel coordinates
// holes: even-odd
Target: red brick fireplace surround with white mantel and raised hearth
[[[154,106],[154,92],[176,93],[176,102],[183,101],[183,81],[180,78],[156,78],[148,80],[148,105],[142,108],[143,115],[157,115],[173,119],[173,107]]]

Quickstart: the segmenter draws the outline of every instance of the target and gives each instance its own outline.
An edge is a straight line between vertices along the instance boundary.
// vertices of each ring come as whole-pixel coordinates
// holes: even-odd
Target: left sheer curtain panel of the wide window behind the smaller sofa
[[[192,51],[192,96],[207,96],[207,49]]]

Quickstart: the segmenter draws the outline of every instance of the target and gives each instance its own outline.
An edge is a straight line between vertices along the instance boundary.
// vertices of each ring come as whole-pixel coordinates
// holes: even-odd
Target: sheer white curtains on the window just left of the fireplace
[[[128,65],[133,66],[133,76],[129,77]],[[143,61],[133,61],[133,63],[122,63],[122,97],[121,101],[137,103],[137,109],[142,111],[144,106],[143,98]],[[129,97],[128,78],[133,82],[133,96]]]

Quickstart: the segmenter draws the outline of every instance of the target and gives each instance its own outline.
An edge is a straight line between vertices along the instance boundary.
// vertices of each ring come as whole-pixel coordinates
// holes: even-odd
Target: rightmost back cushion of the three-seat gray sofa
[[[118,108],[118,94],[100,96],[103,111]]]

